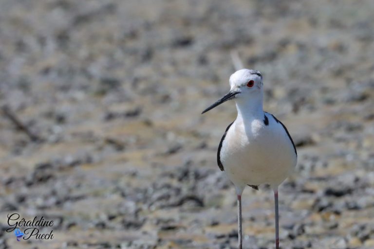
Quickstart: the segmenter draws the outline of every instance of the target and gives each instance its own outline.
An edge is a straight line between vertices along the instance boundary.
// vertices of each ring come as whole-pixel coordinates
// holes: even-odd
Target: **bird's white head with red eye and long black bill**
[[[230,76],[230,91],[203,112],[213,109],[231,99],[249,99],[254,95],[262,94],[262,74],[252,69],[241,69]]]

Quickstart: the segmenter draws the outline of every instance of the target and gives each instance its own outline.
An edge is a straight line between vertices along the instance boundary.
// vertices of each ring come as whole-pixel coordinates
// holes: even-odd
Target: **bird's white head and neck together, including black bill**
[[[262,112],[263,83],[260,71],[250,69],[236,71],[231,74],[229,83],[230,91],[202,113],[231,99],[235,99],[238,112],[252,115]]]

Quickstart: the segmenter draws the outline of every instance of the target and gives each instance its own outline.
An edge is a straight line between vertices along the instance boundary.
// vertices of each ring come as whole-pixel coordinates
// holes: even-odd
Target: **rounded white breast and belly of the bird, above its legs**
[[[277,187],[296,165],[292,142],[274,119],[270,125],[253,120],[246,126],[245,129],[243,122],[235,121],[227,131],[220,153],[224,172],[236,186]]]

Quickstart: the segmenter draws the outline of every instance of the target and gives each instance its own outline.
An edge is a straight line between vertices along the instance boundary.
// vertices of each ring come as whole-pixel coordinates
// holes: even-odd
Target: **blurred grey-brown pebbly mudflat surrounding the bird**
[[[283,249],[374,248],[372,0],[1,0],[0,248],[228,249],[216,163],[230,51],[264,75],[299,162]],[[16,241],[6,216],[53,220]],[[244,248],[274,246],[272,192],[243,195]],[[44,230],[43,230],[44,229]],[[50,231],[43,228],[41,231]]]

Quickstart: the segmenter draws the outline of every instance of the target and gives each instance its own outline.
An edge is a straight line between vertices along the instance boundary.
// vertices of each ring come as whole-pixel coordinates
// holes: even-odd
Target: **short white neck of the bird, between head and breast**
[[[253,119],[263,119],[263,95],[258,94],[248,99],[236,99],[236,108],[238,110],[237,119],[248,122]]]

